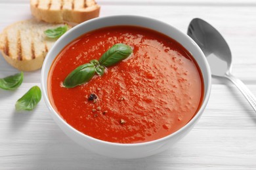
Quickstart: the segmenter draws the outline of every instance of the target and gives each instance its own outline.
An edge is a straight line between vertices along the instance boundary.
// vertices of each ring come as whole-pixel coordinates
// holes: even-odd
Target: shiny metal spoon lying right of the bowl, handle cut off
[[[245,84],[231,74],[232,56],[228,44],[212,25],[200,18],[194,18],[188,26],[190,36],[203,51],[211,67],[213,76],[228,78],[244,94],[256,111],[256,98]]]

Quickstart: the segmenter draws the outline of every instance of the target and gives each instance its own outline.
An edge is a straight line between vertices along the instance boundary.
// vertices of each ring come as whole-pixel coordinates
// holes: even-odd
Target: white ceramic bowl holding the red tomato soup
[[[186,124],[186,126],[182,127],[175,133],[172,133],[171,135],[156,141],[137,144],[110,143],[106,141],[100,141],[77,131],[74,129],[74,127],[66,123],[53,109],[47,94],[47,77],[54,58],[58,55],[62,48],[64,48],[67,44],[69,44],[80,35],[100,27],[107,27],[112,25],[137,25],[140,27],[154,29],[171,37],[172,39],[175,39],[177,42],[182,44],[182,46],[184,46],[184,48],[186,48],[192,54],[192,56],[194,56],[194,59],[196,59],[203,74],[205,93],[202,107],[196,116],[194,116],[194,118],[192,118],[192,120]],[[58,126],[60,126],[64,133],[66,133],[66,135],[68,135],[68,137],[73,139],[76,143],[87,148],[88,150],[102,154],[104,156],[110,156],[114,158],[142,158],[151,156],[153,154],[158,154],[170,146],[173,146],[173,144],[177,143],[177,141],[184,137],[184,135],[186,135],[192,129],[196,122],[198,122],[209,99],[211,91],[211,73],[205,56],[203,55],[202,50],[200,50],[196,42],[171,25],[142,16],[108,16],[83,22],[82,24],[79,24],[70,29],[70,31],[65,33],[65,35],[56,41],[53,48],[51,48],[51,50],[48,52],[43,63],[43,68],[41,71],[41,88],[43,92],[43,98],[45,99],[47,107],[51,111],[51,116],[53,116],[54,121],[58,124]]]

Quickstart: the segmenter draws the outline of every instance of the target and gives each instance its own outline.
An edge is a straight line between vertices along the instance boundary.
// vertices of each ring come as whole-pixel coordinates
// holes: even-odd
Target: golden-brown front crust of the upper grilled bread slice
[[[63,23],[63,22],[74,22],[79,24],[96,18],[100,14],[100,6],[95,3],[92,7],[86,9],[44,9],[38,7],[37,4],[30,1],[30,10],[32,15],[39,20],[43,20],[49,23]]]

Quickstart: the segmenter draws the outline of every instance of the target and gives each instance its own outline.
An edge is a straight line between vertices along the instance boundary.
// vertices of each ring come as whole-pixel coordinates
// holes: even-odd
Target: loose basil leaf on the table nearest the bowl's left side
[[[18,101],[16,101],[16,110],[33,110],[41,100],[41,90],[38,86],[33,86]]]

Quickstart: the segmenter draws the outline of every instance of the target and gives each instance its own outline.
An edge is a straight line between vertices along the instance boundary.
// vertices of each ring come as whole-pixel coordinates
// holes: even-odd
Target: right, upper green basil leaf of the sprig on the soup
[[[107,52],[105,52],[100,58],[100,65],[104,65],[105,67],[110,67],[115,65],[119,61],[128,58],[133,49],[131,46],[126,44],[114,44]]]

